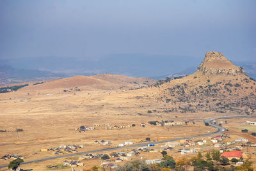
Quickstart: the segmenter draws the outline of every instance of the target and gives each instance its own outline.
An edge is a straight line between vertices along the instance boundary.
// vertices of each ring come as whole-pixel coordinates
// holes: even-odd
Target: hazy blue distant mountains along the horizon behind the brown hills
[[[129,77],[147,77],[161,80],[195,73],[200,57],[150,56],[143,54],[116,54],[95,60],[62,57],[26,57],[1,59],[1,85],[31,80],[51,80],[75,75],[114,73]],[[256,62],[235,61],[250,77],[256,78]]]

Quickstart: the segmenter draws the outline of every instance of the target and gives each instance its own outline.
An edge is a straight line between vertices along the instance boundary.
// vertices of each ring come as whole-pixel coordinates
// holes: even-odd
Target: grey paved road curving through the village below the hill
[[[38,162],[38,161],[53,160],[53,159],[57,159],[57,158],[66,158],[66,157],[70,157],[70,156],[79,156],[79,155],[90,154],[90,153],[95,153],[95,152],[114,151],[114,150],[117,150],[117,149],[147,146],[148,144],[160,144],[160,143],[163,143],[163,142],[173,142],[173,141],[177,141],[177,140],[184,140],[184,139],[191,139],[191,138],[198,138],[198,137],[207,137],[207,136],[211,136],[211,135],[214,135],[214,134],[223,133],[226,130],[225,128],[223,128],[221,126],[218,126],[218,125],[214,124],[214,120],[216,120],[216,119],[234,119],[234,118],[241,118],[241,117],[256,117],[256,115],[223,116],[223,117],[213,117],[213,118],[209,118],[209,119],[190,119],[190,121],[193,121],[193,120],[204,121],[204,123],[209,123],[209,126],[217,128],[218,130],[215,131],[215,132],[212,132],[212,133],[207,133],[207,134],[204,134],[204,135],[197,135],[197,136],[192,136],[192,137],[175,138],[175,139],[172,139],[172,140],[163,140],[163,141],[158,141],[158,142],[147,142],[147,143],[129,145],[129,146],[125,146],[125,147],[113,147],[113,148],[100,149],[100,150],[95,150],[95,151],[78,152],[76,154],[67,154],[67,155],[63,155],[63,156],[54,156],[54,157],[51,157],[51,158],[43,158],[43,159],[40,159],[40,160],[25,161],[24,163],[21,163],[21,165],[28,164],[28,163],[35,163],[35,162]],[[0,168],[3,168],[3,167],[8,167],[8,165],[0,166]]]

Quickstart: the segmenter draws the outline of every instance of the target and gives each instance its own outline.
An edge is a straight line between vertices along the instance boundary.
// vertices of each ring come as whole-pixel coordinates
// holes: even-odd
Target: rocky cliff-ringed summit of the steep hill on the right
[[[237,75],[244,73],[243,68],[235,66],[221,52],[213,51],[205,54],[204,61],[198,66],[198,71],[204,73],[204,75]]]

